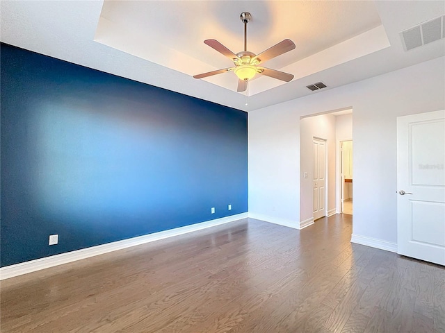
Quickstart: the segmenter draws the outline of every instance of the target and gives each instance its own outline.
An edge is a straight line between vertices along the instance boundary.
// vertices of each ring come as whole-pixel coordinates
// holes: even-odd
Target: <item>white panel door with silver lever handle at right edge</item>
[[[445,265],[445,110],[397,118],[397,253]]]

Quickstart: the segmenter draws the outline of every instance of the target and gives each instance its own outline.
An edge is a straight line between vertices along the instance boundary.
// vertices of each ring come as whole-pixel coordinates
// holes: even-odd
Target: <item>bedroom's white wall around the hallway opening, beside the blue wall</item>
[[[396,117],[445,108],[444,64],[441,57],[250,112],[250,216],[298,225],[300,117],[351,107],[353,234],[396,244]]]

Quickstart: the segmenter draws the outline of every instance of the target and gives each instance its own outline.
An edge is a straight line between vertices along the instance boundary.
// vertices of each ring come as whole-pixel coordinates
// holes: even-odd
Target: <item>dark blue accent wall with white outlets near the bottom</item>
[[[247,212],[247,118],[1,44],[1,266]]]

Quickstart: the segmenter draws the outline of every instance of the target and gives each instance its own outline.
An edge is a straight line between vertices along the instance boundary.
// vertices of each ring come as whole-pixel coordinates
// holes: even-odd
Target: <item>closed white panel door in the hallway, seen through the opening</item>
[[[326,141],[314,137],[314,220],[325,216]]]

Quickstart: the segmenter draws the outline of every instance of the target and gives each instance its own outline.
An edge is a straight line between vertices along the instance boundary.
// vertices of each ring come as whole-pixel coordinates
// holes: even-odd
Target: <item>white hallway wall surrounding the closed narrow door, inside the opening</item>
[[[314,137],[326,140],[327,210],[335,209],[335,118],[333,114],[321,114],[300,120],[300,221],[307,221],[313,217]],[[305,172],[307,178],[303,177]]]

